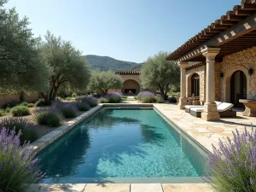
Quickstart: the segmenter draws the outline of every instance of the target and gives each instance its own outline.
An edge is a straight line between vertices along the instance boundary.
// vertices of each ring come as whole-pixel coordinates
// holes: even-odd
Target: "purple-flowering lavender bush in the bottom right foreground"
[[[233,139],[219,140],[209,155],[209,176],[215,191],[256,191],[256,129],[233,132]]]

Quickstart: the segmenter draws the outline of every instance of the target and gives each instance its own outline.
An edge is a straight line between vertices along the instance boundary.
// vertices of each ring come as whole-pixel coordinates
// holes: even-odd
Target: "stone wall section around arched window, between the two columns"
[[[200,100],[206,101],[206,66],[200,66],[188,69],[186,71],[186,93],[187,97],[191,96],[191,77],[194,73],[197,73],[200,77]]]

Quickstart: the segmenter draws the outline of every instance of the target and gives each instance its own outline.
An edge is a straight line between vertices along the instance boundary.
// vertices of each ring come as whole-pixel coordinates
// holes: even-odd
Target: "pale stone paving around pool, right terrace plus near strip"
[[[137,103],[137,101],[125,102]],[[212,152],[212,144],[218,147],[218,139],[225,140],[232,137],[232,131],[236,129],[244,131],[245,126],[252,123],[256,125],[256,118],[244,117],[237,112],[236,118],[222,118],[219,121],[210,122],[195,118],[184,110],[172,104],[154,104],[154,108],[162,113],[166,119],[171,120],[189,136]],[[254,127],[254,126],[253,126]],[[248,129],[249,130],[249,129]],[[205,183],[103,183],[103,184],[35,184],[29,191],[68,191],[68,192],[212,192],[212,189]]]

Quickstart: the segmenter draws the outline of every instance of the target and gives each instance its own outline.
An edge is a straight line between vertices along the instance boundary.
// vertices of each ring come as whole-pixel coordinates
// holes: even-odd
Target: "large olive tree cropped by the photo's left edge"
[[[15,9],[4,9],[0,0],[0,92],[44,91],[48,89],[49,68],[38,51],[26,17]]]

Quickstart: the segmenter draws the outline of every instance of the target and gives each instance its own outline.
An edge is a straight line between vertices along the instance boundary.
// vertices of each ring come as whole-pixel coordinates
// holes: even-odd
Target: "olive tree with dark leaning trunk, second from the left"
[[[61,86],[69,86],[73,90],[84,90],[90,79],[90,66],[82,53],[70,42],[61,37],[56,38],[50,32],[45,35],[41,46],[41,54],[50,69],[49,91],[42,93],[49,102],[57,96]]]

